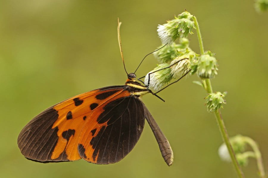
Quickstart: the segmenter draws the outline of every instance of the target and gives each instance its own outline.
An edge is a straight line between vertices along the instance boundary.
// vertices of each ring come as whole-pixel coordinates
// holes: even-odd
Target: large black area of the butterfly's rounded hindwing
[[[133,149],[141,136],[145,120],[143,104],[136,96],[117,99],[104,107],[98,120],[107,121],[107,127],[91,140],[94,163],[116,163]]]

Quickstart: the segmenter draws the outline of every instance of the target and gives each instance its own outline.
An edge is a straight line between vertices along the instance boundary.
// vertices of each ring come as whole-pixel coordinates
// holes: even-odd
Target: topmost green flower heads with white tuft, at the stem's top
[[[183,12],[175,19],[167,21],[163,25],[158,25],[158,36],[163,44],[172,44],[177,38],[187,38],[188,34],[193,34],[194,22],[193,15],[189,12]]]

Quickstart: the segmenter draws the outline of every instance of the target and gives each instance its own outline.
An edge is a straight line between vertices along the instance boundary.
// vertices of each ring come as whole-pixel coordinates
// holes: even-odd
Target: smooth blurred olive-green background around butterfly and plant
[[[216,53],[214,90],[228,91],[222,109],[229,135],[255,139],[268,171],[267,13],[254,1],[0,1],[0,177],[236,177],[217,154],[222,138],[204,106],[196,75],[159,95],[143,97],[174,151],[168,167],[148,124],[133,151],[119,163],[84,160],[36,163],[21,155],[17,136],[29,120],[71,96],[126,80],[117,43],[117,17],[127,70],[161,45],[156,28],[187,9],[197,16],[206,50]],[[196,33],[190,47],[199,53]],[[151,55],[137,75],[153,69]],[[255,160],[243,168],[257,177]]]

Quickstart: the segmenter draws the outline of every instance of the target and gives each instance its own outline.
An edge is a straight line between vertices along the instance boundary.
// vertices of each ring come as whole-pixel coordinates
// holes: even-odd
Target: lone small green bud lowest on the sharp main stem
[[[224,96],[221,92],[209,93],[206,99],[206,106],[208,112],[214,112],[219,108],[222,108],[226,101],[223,99]]]

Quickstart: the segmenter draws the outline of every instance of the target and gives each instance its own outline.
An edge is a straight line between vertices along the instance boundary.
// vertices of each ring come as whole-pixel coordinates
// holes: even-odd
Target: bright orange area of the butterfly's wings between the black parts
[[[86,141],[91,140],[95,134],[98,134],[103,126],[107,126],[106,122],[102,124],[97,122],[105,104],[127,96],[130,96],[130,93],[123,89],[93,90],[55,105],[53,109],[57,110],[59,116],[52,129],[58,128],[58,141],[51,159],[59,158],[64,151],[68,160],[80,159],[79,151],[81,153],[85,149],[82,145],[90,146]],[[83,137],[84,135],[88,135],[89,138]],[[83,138],[83,140],[80,140],[80,138]],[[88,150],[90,152],[86,154],[92,155],[94,149]],[[88,156],[88,158],[90,162],[95,161],[91,156]]]

